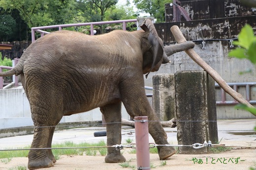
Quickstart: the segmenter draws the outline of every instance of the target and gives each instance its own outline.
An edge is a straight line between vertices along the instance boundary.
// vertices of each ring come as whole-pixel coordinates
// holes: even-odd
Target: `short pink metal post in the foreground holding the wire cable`
[[[135,117],[136,158],[138,170],[150,170],[148,117]]]

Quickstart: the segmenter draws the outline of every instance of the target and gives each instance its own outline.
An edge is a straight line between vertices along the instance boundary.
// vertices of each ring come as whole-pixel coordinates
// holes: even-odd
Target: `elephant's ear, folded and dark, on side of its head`
[[[151,71],[158,71],[160,64],[162,63],[162,56],[163,56],[163,43],[158,36],[157,30],[155,25],[150,20],[145,20],[143,24],[140,26],[145,32],[150,32],[148,41],[151,44],[151,53],[153,57],[153,63],[151,69],[146,74],[146,78]]]

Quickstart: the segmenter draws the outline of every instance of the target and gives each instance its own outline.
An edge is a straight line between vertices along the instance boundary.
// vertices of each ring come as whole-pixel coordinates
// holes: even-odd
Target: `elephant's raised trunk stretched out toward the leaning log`
[[[164,52],[167,56],[170,56],[176,52],[184,51],[186,49],[192,49],[194,47],[194,43],[192,41],[187,41],[181,44],[175,44],[164,47]]]

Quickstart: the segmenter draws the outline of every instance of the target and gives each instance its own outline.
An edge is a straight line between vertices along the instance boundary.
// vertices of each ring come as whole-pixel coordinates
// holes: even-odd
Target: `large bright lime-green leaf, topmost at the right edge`
[[[250,44],[254,41],[254,39],[253,28],[249,24],[246,24],[239,33],[238,42],[234,42],[234,44],[245,49],[249,49]]]

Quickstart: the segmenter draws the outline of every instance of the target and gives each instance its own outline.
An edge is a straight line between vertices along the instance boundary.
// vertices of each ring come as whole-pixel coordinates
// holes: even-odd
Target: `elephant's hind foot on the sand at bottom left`
[[[36,160],[29,159],[28,168],[30,170],[36,170],[40,168],[50,168],[50,167],[54,167],[54,163],[48,157],[44,157]]]

